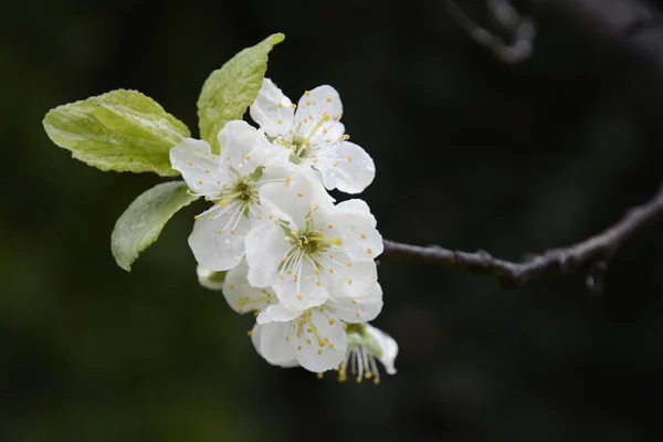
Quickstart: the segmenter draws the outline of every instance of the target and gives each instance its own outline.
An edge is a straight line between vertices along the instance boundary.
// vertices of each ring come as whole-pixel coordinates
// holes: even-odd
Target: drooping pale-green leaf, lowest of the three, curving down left
[[[130,272],[138,254],[154,243],[166,222],[198,197],[187,193],[187,183],[157,185],[136,198],[115,223],[110,250],[117,265]]]

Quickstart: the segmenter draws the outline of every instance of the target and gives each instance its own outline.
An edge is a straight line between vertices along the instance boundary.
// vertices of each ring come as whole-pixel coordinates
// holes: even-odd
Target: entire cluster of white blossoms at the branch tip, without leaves
[[[361,192],[373,161],[348,140],[330,86],[295,105],[265,78],[250,113],[260,128],[229,122],[219,155],[191,138],[170,150],[190,194],[212,202],[189,236],[199,280],[235,312],[255,313],[251,340],[270,364],[378,383],[376,361],[394,373],[398,352],[367,324],[382,308],[382,238],[366,202],[336,203],[327,192]],[[228,272],[223,282],[215,272]]]

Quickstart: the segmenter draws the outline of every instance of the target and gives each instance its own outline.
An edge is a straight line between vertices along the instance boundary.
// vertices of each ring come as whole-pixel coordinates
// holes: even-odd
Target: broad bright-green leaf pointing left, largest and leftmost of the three
[[[154,99],[136,91],[113,91],[49,112],[43,120],[60,147],[102,170],[176,176],[169,151],[190,133]]]

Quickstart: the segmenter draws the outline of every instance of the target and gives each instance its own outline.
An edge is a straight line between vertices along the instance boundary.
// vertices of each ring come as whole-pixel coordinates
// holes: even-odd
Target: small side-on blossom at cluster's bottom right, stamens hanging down
[[[338,380],[347,379],[348,366],[357,382],[371,379],[380,382],[380,370],[376,359],[383,366],[388,375],[396,375],[393,362],[398,355],[398,344],[385,332],[370,324],[351,324],[347,328],[348,349],[343,362],[337,367]]]

